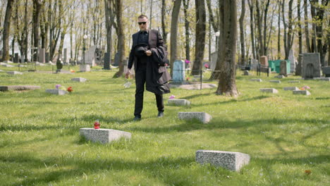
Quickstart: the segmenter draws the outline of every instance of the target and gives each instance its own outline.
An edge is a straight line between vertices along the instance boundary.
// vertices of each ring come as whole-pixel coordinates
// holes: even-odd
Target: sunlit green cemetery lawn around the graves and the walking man
[[[5,70],[6,68],[1,68]],[[94,69],[94,68],[93,68]],[[76,69],[78,70],[78,68]],[[330,82],[262,82],[237,72],[238,98],[216,89],[173,88],[176,99],[191,106],[168,106],[157,118],[154,94],[145,92],[142,120],[133,122],[135,85],[124,88],[116,71],[7,75],[0,85],[40,85],[23,92],[0,92],[0,185],[329,185]],[[73,82],[85,77],[87,82]],[[217,85],[217,82],[211,82]],[[56,96],[45,89],[73,87]],[[312,95],[294,95],[283,87],[309,86]],[[278,94],[259,92],[276,88]],[[202,111],[213,118],[178,120],[180,111]],[[132,133],[131,140],[94,144],[80,128]],[[238,151],[251,160],[239,172],[195,162],[199,149]]]

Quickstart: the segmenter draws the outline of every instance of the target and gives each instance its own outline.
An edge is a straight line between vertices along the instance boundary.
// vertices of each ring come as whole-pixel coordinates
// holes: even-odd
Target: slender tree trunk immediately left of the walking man
[[[118,63],[119,70],[114,75],[114,77],[121,77],[123,75],[123,62],[125,60],[125,37],[123,33],[123,1],[122,0],[111,0],[114,1],[114,8],[116,11],[116,20],[117,20],[117,36],[118,36],[118,51],[120,61]]]

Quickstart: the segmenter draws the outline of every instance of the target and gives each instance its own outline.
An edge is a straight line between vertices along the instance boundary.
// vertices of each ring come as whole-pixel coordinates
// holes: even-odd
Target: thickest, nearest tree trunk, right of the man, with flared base
[[[238,90],[236,87],[236,39],[237,39],[237,11],[236,0],[221,0],[224,4],[222,11],[221,22],[223,40],[223,48],[218,49],[222,53],[221,72],[219,78],[219,86],[216,89],[216,94],[224,94],[226,96],[237,97]],[[224,20],[226,18],[226,21]]]

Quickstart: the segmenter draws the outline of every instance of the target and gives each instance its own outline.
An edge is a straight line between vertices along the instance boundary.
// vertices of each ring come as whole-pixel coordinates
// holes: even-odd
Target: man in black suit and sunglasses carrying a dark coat
[[[128,78],[134,64],[136,85],[134,120],[141,120],[145,84],[147,90],[154,92],[156,96],[158,117],[161,118],[164,116],[163,94],[169,93],[167,82],[171,78],[163,63],[167,61],[166,46],[157,30],[149,30],[147,16],[139,16],[138,24],[140,31],[133,34],[133,46],[125,75]]]

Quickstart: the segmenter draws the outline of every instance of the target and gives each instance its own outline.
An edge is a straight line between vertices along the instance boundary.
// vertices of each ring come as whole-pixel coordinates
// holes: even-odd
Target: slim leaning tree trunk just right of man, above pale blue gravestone
[[[170,63],[171,63],[171,75],[173,74],[173,62],[177,58],[177,42],[178,42],[178,16],[180,12],[181,0],[176,0],[174,2],[172,10],[172,20],[171,20],[171,51],[170,51]]]

